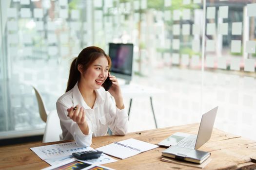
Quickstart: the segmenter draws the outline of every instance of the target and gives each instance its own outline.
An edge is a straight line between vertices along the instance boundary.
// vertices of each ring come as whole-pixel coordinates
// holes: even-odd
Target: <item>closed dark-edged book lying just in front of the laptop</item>
[[[175,158],[180,161],[194,162],[201,164],[211,153],[198,151],[194,149],[182,148],[178,146],[171,146],[162,152],[162,156]]]

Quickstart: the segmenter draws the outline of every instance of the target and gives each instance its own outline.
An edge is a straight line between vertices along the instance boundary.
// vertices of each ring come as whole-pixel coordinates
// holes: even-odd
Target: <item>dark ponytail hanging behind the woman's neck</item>
[[[68,92],[69,90],[71,90],[76,83],[79,81],[80,78],[80,72],[78,70],[78,66],[77,66],[77,58],[76,57],[70,66],[70,70],[69,70],[69,77],[68,77],[68,85],[67,85],[67,89],[66,92]]]

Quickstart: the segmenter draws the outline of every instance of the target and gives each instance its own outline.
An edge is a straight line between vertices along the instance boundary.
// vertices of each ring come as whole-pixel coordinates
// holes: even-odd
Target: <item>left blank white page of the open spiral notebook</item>
[[[141,153],[139,151],[136,151],[115,143],[111,143],[109,145],[99,147],[97,148],[97,150],[102,151],[103,153],[106,153],[108,155],[115,156],[120,159],[125,159],[127,157],[131,157],[133,155]]]

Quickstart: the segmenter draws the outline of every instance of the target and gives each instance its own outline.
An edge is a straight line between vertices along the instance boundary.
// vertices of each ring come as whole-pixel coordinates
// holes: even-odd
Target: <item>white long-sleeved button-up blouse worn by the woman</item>
[[[60,119],[62,135],[60,140],[75,140],[79,146],[90,146],[92,136],[104,136],[108,127],[117,135],[125,135],[128,130],[128,115],[125,109],[118,109],[109,92],[103,87],[96,91],[96,101],[90,108],[79,91],[78,83],[68,92],[59,97],[56,106]],[[67,109],[80,105],[86,113],[86,121],[89,125],[89,134],[84,135],[78,124],[70,119]]]

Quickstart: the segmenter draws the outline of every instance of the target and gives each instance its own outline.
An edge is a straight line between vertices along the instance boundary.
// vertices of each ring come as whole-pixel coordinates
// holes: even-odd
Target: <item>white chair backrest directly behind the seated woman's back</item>
[[[43,143],[59,141],[59,135],[62,133],[57,110],[51,111],[47,116],[44,129]]]

